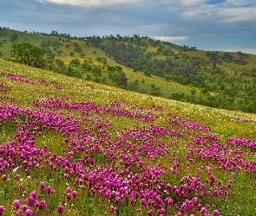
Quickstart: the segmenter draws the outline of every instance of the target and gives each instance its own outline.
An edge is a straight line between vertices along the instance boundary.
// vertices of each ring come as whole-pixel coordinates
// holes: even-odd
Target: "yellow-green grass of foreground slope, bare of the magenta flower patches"
[[[235,111],[226,111],[226,110],[217,110],[212,109],[200,105],[190,105],[187,103],[181,103],[174,100],[168,100],[164,98],[155,98],[149,97],[148,95],[139,94],[136,92],[127,92],[120,89],[116,89],[114,87],[102,86],[95,83],[83,81],[81,79],[75,78],[67,78],[60,74],[50,73],[48,71],[38,70],[31,67],[24,67],[22,65],[17,65],[14,63],[6,62],[0,60],[0,72],[7,72],[25,76],[30,79],[45,79],[48,83],[54,83],[60,86],[63,86],[63,90],[56,91],[56,89],[42,86],[42,85],[30,85],[23,84],[20,82],[16,82],[14,80],[10,80],[3,76],[0,76],[0,83],[6,83],[8,87],[8,92],[0,92],[0,96],[4,97],[3,100],[7,101],[10,104],[10,98],[15,98],[16,105],[22,107],[30,107],[30,102],[37,98],[49,98],[50,96],[57,96],[60,98],[68,97],[72,102],[75,101],[84,101],[84,102],[92,102],[97,105],[105,105],[108,106],[111,104],[111,101],[125,101],[123,105],[126,109],[133,109],[130,105],[135,105],[136,107],[152,107],[152,105],[161,105],[163,110],[162,112],[154,111],[154,115],[157,118],[154,120],[154,124],[164,125],[164,118],[177,118],[177,119],[186,119],[187,121],[196,121],[199,124],[206,124],[211,128],[210,133],[215,134],[220,137],[221,142],[225,143],[226,136],[228,137],[246,137],[246,139],[255,139],[256,133],[256,115],[246,114],[242,112]],[[8,98],[6,98],[8,97]],[[71,115],[77,115],[77,111],[69,111]],[[114,117],[111,115],[101,116],[101,114],[92,113],[98,118],[108,118],[111,127],[115,130],[124,130],[125,128],[131,129],[134,126],[138,127],[148,127],[150,123],[141,122],[135,118],[127,118],[127,117]],[[252,121],[251,123],[249,121]],[[178,127],[179,128],[179,127]],[[182,128],[182,127],[181,127]],[[177,129],[174,126],[174,129]],[[4,144],[7,141],[12,139],[12,133],[14,132],[13,125],[9,122],[3,122],[0,126],[1,135],[0,141]],[[110,132],[114,132],[110,130]],[[62,149],[64,148],[61,143],[63,141],[63,137],[61,134],[58,134],[52,130],[43,130],[43,137],[36,136],[36,146],[37,148],[43,148],[44,144],[47,144],[49,147],[49,151],[52,153],[56,153],[57,155],[62,155]],[[113,135],[114,136],[114,135]],[[175,138],[176,139],[176,138]],[[169,149],[170,155],[168,157],[172,158],[173,151],[176,151],[177,156],[179,156],[179,162],[185,164],[187,161],[183,157],[186,149],[184,149],[184,145],[187,141],[191,140],[192,137],[178,137],[180,140],[177,146],[173,146],[174,149]],[[168,142],[165,140],[164,142]],[[140,143],[138,143],[140,144]],[[228,147],[228,149],[234,149],[233,147]],[[238,147],[241,150],[240,147]],[[249,149],[245,153],[245,157],[247,160],[255,160],[255,151],[253,149]],[[157,158],[156,161],[148,160],[148,165],[154,165],[158,162],[162,162],[162,164],[167,165],[167,167],[171,166],[170,161],[166,158]],[[200,166],[206,167],[210,163],[213,163],[213,173],[220,179],[222,182],[228,181],[230,179],[230,172],[225,171],[223,169],[218,169],[218,165],[215,162],[210,161],[202,161],[199,159],[194,159],[194,166],[186,169],[184,166],[181,166],[178,174],[176,175],[167,175],[165,176],[166,181],[172,182],[172,184],[177,184],[182,176],[188,175],[189,173],[194,175],[197,172],[197,168]],[[111,163],[109,164],[110,166]],[[106,164],[107,166],[107,164]],[[22,170],[19,170],[18,173],[23,175],[26,178],[26,175],[23,174]],[[220,210],[222,215],[233,215],[232,211],[235,210],[236,213],[234,215],[255,215],[255,183],[254,176],[252,173],[244,173],[240,169],[236,169],[234,171],[233,177],[233,185],[231,187],[231,192],[228,196],[224,198],[209,198],[208,200],[204,200],[205,205],[212,205],[213,203]],[[74,188],[73,183],[74,180],[69,178],[69,180],[62,179],[62,173],[54,173],[44,170],[43,173],[41,171],[37,171],[34,168],[30,171],[29,175],[33,181],[24,182],[24,190],[27,193],[34,188],[38,187],[39,182],[45,181],[51,187],[56,189],[56,195],[51,198],[43,198],[47,200],[47,205],[49,206],[49,211],[53,211],[50,215],[56,215],[54,209],[56,208],[59,201],[64,203],[64,200],[58,199],[60,195],[63,194],[66,186],[64,183],[69,183],[70,187]],[[50,177],[49,177],[50,176]],[[12,174],[9,174],[9,178],[13,178]],[[202,176],[202,179],[206,178],[206,176]],[[52,179],[52,180],[51,180]],[[203,180],[202,180],[203,181]],[[7,181],[8,182],[8,181]],[[5,184],[5,186],[4,186]],[[14,184],[16,184],[14,182]],[[10,204],[14,199],[21,199],[21,194],[18,194],[15,190],[13,190],[13,186],[4,183],[0,180],[0,185],[3,188],[7,188],[6,191],[1,190],[0,194],[0,204],[6,206],[6,214],[10,215]],[[108,212],[108,201],[98,198],[91,197],[89,194],[84,194],[81,189],[77,189],[79,192],[79,196],[77,200],[74,201],[75,207],[81,212],[81,215],[85,215],[86,213],[92,213],[92,215],[102,215]],[[5,194],[5,195],[4,195]],[[4,196],[4,198],[3,198]],[[7,196],[7,198],[6,198]],[[7,199],[7,200],[6,200]],[[223,200],[224,199],[224,200]],[[87,203],[83,203],[83,200],[88,201]],[[85,205],[85,206],[84,206]],[[99,207],[99,205],[101,207]],[[125,207],[124,207],[125,206]],[[128,213],[135,215],[135,208],[140,207],[138,203],[135,206],[117,206],[116,211],[118,210],[120,215],[128,215]],[[74,206],[65,206],[64,215],[73,215],[74,214]],[[84,208],[83,210],[81,208]],[[211,208],[212,209],[212,208]],[[82,212],[85,211],[85,212]],[[123,212],[124,211],[124,212]],[[125,212],[128,211],[128,212]],[[146,210],[143,210],[141,213],[137,213],[137,215],[146,215]],[[171,213],[174,209],[169,210]],[[55,213],[55,214],[54,214]],[[108,213],[107,213],[108,214]],[[75,214],[74,214],[75,215]]]

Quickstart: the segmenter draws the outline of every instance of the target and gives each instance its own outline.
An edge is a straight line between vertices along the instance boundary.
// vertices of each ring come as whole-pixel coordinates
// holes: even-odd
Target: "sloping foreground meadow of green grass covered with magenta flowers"
[[[0,61],[0,215],[256,215],[255,127]]]

